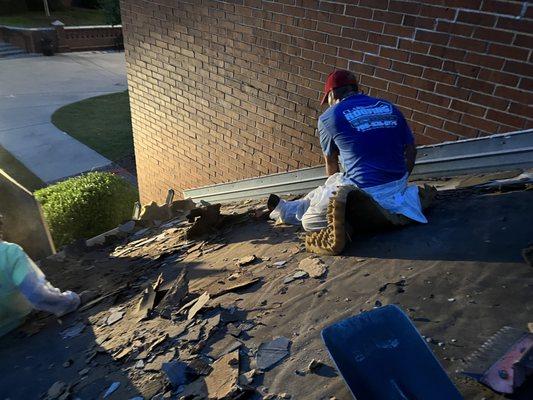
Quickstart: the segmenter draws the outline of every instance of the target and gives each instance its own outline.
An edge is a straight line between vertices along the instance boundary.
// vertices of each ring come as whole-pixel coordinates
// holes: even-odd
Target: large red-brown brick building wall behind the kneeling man
[[[419,144],[533,127],[533,5],[496,0],[123,0],[143,201],[321,163],[333,68]]]

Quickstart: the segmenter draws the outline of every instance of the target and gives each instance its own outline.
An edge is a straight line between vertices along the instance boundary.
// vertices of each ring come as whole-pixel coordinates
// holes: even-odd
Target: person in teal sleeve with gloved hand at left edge
[[[0,337],[21,325],[32,309],[60,317],[79,305],[76,293],[61,293],[19,245],[4,242],[0,236]]]

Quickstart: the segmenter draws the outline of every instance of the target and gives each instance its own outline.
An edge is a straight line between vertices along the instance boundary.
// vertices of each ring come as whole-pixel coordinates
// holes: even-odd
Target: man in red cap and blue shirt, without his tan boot
[[[318,118],[318,135],[329,178],[300,200],[271,195],[270,217],[301,223],[306,231],[323,229],[333,192],[353,185],[388,211],[426,223],[418,187],[407,185],[416,146],[402,113],[386,100],[360,93],[355,75],[346,70],[328,75],[322,104],[326,101],[330,107]]]

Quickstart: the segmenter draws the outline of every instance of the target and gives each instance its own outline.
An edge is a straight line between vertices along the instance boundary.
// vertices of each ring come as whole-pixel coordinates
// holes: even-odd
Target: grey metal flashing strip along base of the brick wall
[[[533,167],[533,129],[475,139],[419,146],[412,180]],[[270,193],[302,194],[322,185],[323,166],[265,175],[183,191],[195,201],[227,203],[267,197]]]

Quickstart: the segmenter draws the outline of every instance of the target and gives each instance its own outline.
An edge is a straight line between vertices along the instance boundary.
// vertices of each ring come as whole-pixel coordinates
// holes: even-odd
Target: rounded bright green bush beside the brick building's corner
[[[137,190],[107,172],[91,172],[35,192],[56,246],[90,238],[131,218]]]

